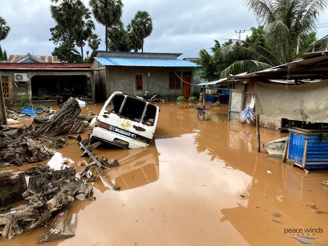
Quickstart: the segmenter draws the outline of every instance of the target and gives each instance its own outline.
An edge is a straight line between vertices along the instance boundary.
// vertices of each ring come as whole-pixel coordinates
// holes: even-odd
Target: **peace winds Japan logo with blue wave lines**
[[[315,239],[318,239],[316,235],[323,233],[323,229],[318,228],[285,228],[284,234],[290,235],[293,238],[303,244],[311,244]]]

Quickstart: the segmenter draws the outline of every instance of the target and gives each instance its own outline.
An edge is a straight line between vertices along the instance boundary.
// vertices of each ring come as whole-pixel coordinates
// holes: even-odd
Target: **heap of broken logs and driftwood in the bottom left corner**
[[[0,214],[0,234],[3,238],[11,239],[24,231],[31,231],[46,224],[52,215],[67,210],[74,197],[79,194],[91,199],[92,186],[83,179],[73,177],[76,173],[73,167],[53,170],[47,165],[38,165],[25,172],[31,175],[27,190],[22,194],[28,204]],[[62,223],[61,220],[57,221]],[[52,227],[56,226],[52,225]],[[72,230],[70,233],[74,235]],[[57,233],[57,237],[53,234],[50,239],[62,237],[63,235]],[[43,235],[40,238],[40,242],[47,240],[49,236]]]

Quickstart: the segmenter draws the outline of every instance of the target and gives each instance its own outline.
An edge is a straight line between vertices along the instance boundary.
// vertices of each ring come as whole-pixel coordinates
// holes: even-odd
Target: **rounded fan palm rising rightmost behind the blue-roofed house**
[[[144,39],[152,32],[152,19],[147,11],[138,11],[131,20],[128,29],[132,28],[131,34],[136,38],[136,42],[141,43],[141,52],[143,52]],[[135,50],[137,51],[137,50]]]

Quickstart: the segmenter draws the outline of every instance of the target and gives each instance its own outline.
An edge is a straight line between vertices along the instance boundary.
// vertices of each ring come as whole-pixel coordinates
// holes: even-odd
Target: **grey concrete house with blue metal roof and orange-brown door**
[[[193,95],[194,68],[191,61],[178,59],[178,53],[140,53],[94,50],[92,62],[97,100],[122,91],[143,96],[159,92],[168,99]]]

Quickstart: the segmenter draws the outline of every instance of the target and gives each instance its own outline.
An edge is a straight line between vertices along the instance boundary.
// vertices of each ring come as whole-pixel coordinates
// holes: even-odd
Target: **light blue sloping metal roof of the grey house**
[[[125,67],[198,67],[198,64],[181,59],[146,59],[146,58],[117,58],[94,57],[103,66]]]

